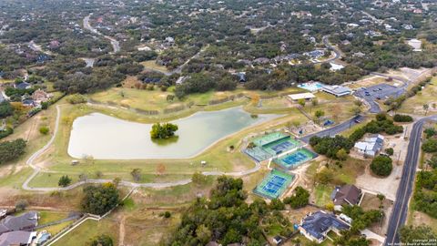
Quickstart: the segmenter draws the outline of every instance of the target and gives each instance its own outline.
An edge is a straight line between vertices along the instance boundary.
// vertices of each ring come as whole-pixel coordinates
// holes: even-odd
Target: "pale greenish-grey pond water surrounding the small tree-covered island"
[[[152,140],[152,124],[142,124],[92,113],[73,122],[68,154],[76,159],[178,159],[189,158],[242,128],[278,118],[252,118],[242,108],[198,112],[171,121],[178,125],[177,137]]]

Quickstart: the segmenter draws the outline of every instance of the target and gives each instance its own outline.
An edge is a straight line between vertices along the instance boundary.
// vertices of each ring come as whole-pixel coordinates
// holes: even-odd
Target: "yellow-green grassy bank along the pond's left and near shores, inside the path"
[[[61,124],[56,137],[54,147],[46,152],[46,155],[39,160],[44,160],[45,166],[57,173],[44,173],[32,180],[31,185],[35,186],[50,186],[56,187],[57,180],[61,174],[67,174],[77,180],[77,176],[81,173],[87,175],[89,179],[97,178],[95,176],[97,170],[103,173],[103,178],[131,180],[130,171],[135,168],[142,169],[144,178],[143,182],[151,181],[168,181],[187,179],[194,171],[204,170],[223,170],[230,171],[235,169],[249,169],[254,163],[239,151],[229,152],[229,146],[233,145],[239,149],[241,139],[249,135],[251,132],[264,131],[270,128],[278,128],[284,126],[290,120],[298,120],[303,122],[305,118],[296,109],[292,109],[289,116],[277,118],[270,122],[260,124],[259,126],[245,128],[234,135],[225,138],[207,151],[193,159],[147,159],[147,160],[81,160],[81,163],[76,166],[71,166],[71,158],[67,155],[66,149],[68,145],[69,133],[71,124],[74,118],[86,115],[93,111],[99,111],[97,108],[88,106],[62,106]],[[104,112],[105,113],[105,112]],[[206,160],[207,167],[201,167],[200,161]],[[158,164],[166,166],[165,175],[157,176]],[[49,185],[51,184],[51,185]]]

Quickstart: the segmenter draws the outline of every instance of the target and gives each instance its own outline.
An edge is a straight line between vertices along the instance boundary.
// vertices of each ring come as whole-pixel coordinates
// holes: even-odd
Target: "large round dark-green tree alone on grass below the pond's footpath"
[[[84,188],[82,208],[89,213],[103,215],[113,209],[119,202],[119,194],[113,183],[104,183]]]

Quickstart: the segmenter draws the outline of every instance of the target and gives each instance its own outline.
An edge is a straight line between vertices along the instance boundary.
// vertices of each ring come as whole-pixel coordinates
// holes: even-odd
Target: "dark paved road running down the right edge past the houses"
[[[405,223],[408,214],[408,203],[412,196],[414,176],[416,174],[417,161],[421,150],[422,127],[426,120],[436,120],[437,116],[421,118],[412,126],[410,143],[408,144],[407,157],[405,159],[401,182],[396,193],[393,210],[389,220],[385,245],[399,245],[399,230]]]

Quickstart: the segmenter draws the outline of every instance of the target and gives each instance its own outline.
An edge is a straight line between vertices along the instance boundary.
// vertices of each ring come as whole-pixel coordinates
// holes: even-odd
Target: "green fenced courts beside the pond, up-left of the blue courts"
[[[256,161],[270,159],[290,149],[300,146],[300,142],[283,132],[273,132],[252,140],[253,145],[244,150]]]

